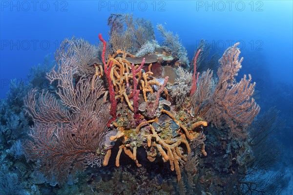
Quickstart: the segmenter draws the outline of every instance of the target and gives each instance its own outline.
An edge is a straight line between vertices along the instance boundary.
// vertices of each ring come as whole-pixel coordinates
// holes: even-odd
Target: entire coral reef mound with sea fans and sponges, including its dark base
[[[34,195],[253,194],[257,177],[250,173],[262,165],[268,149],[260,145],[268,147],[264,135],[272,133],[257,129],[274,128],[277,112],[259,123],[268,126],[252,123],[260,108],[251,76],[236,80],[238,43],[219,60],[215,78],[210,69],[199,71],[209,55],[204,41],[189,64],[179,36],[163,25],[162,43],[147,20],[112,14],[108,25],[110,39],[100,34],[98,47],[74,38],[61,43],[46,75],[51,86],[30,85],[23,93],[11,87],[9,97],[21,106],[1,108],[0,133],[11,138],[17,127],[32,126],[22,148],[21,136],[1,138],[0,163],[9,168],[0,170],[12,173],[0,175],[0,188]],[[275,188],[284,186],[284,175],[272,176],[280,180]]]

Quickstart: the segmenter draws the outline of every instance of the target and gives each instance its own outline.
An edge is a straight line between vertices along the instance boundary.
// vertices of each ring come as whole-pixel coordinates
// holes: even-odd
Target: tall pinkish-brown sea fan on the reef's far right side
[[[235,77],[241,68],[243,58],[239,59],[239,43],[228,48],[219,60],[219,82],[216,85],[208,118],[217,128],[229,128],[232,135],[245,137],[245,128],[251,124],[259,113],[259,106],[251,96],[254,93],[255,82],[251,83],[251,75],[240,82]]]

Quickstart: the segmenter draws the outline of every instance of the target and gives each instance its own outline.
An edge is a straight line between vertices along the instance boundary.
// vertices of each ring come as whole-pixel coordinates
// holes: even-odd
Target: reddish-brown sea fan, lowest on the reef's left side
[[[87,165],[102,164],[97,149],[106,133],[109,115],[106,106],[99,108],[99,115],[88,107],[74,115],[71,123],[40,124],[36,121],[30,137],[23,145],[29,160],[37,161],[39,170],[47,180],[57,179],[64,184],[69,174],[82,171]]]

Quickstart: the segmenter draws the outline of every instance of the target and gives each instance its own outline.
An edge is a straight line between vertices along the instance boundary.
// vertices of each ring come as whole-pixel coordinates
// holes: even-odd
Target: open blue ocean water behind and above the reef
[[[293,1],[291,0],[1,0],[0,98],[11,79],[28,82],[30,69],[43,62],[65,38],[98,44],[109,39],[111,13],[132,13],[178,34],[191,60],[201,39],[211,44],[210,56],[240,42],[244,57],[239,79],[251,74],[261,113],[275,106],[286,123],[275,139],[287,153],[283,168],[293,164]],[[159,32],[155,29],[160,42]],[[1,130],[2,131],[2,130]],[[291,165],[292,165],[291,164]],[[289,191],[288,191],[289,192]]]

